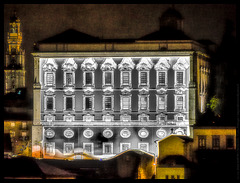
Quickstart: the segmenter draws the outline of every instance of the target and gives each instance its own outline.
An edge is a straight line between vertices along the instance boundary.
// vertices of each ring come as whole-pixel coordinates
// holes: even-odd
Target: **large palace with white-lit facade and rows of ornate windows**
[[[32,53],[33,156],[83,151],[106,158],[127,149],[157,155],[156,141],[192,136],[204,111],[208,56],[193,40],[150,37],[99,40],[69,30],[39,42]]]

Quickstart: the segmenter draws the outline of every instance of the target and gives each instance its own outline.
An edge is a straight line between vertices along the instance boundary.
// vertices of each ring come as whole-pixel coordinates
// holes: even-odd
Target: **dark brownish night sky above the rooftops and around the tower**
[[[171,4],[5,4],[4,44],[13,11],[22,23],[27,87],[32,96],[33,43],[69,28],[100,38],[140,38],[159,29],[159,17]],[[221,43],[225,20],[236,25],[234,4],[175,4],[184,17],[183,31],[193,39]]]

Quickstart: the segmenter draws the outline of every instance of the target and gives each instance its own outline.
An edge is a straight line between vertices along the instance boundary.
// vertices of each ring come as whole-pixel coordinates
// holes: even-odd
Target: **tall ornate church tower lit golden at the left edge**
[[[18,88],[25,88],[25,50],[22,49],[22,32],[20,19],[10,17],[7,38],[7,51],[4,63],[4,94],[14,93]]]

